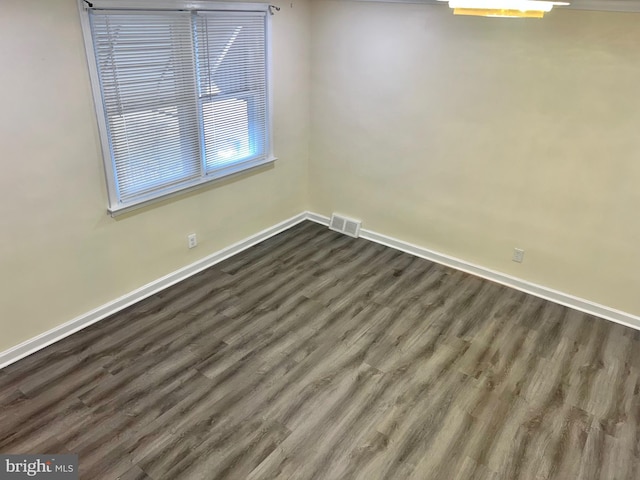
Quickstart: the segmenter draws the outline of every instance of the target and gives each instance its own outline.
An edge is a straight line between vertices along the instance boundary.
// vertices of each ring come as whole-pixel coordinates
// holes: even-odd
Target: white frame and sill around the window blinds
[[[112,216],[135,210],[149,204],[165,200],[167,198],[181,195],[204,185],[227,178],[241,172],[254,169],[256,167],[271,164],[277,158],[273,153],[273,119],[272,119],[272,99],[271,90],[271,15],[269,4],[265,3],[235,3],[235,2],[219,2],[216,0],[154,0],[150,4],[148,0],[92,0],[93,7],[90,8],[83,0],[77,0],[80,12],[80,20],[82,33],[85,44],[85,53],[89,67],[89,77],[91,80],[91,90],[93,94],[93,102],[96,113],[98,131],[100,135],[102,160],[104,166],[105,180],[108,194],[107,211]],[[130,202],[120,202],[118,193],[118,184],[116,181],[116,166],[114,156],[111,152],[111,141],[109,137],[109,129],[107,126],[106,112],[103,105],[102,90],[100,78],[96,62],[96,54],[94,50],[93,35],[89,18],[89,10],[105,9],[105,10],[149,10],[149,11],[222,11],[222,12],[260,12],[265,14],[265,91],[266,91],[266,142],[265,155],[261,158],[249,158],[246,160],[235,161],[226,167],[216,169],[207,173],[206,159],[201,158],[201,175],[192,182],[182,182],[177,186],[162,189],[160,192],[149,192],[146,195],[139,196]],[[204,128],[202,116],[202,98],[197,95],[196,102],[198,105],[198,116],[195,119]],[[202,133],[202,132],[201,132]],[[202,155],[201,155],[202,156]],[[185,183],[187,183],[185,185]]]

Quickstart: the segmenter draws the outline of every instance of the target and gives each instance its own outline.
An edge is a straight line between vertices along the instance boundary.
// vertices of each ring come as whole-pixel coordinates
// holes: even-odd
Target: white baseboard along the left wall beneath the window
[[[247,248],[252,247],[253,245],[266,240],[269,237],[273,237],[284,230],[288,230],[289,228],[297,225],[300,222],[303,222],[307,219],[306,212],[300,213],[294,217],[291,217],[284,222],[278,223],[272,227],[269,227],[255,235],[251,235],[250,237],[245,238],[227,248],[223,248],[218,252],[215,252],[205,258],[198,260],[197,262],[192,263],[191,265],[187,265],[175,272],[172,272],[168,275],[165,275],[158,280],[154,280],[151,283],[148,283],[133,292],[127,293],[122,297],[113,300],[112,302],[106,303],[90,312],[80,315],[79,317],[74,318],[58,327],[55,327],[48,332],[44,332],[37,337],[31,338],[26,342],[21,343],[20,345],[16,345],[9,350],[5,350],[4,352],[0,352],[0,369],[10,365],[21,358],[24,358],[28,355],[31,355],[38,350],[41,350],[52,343],[55,343],[59,340],[62,340],[69,335],[82,330],[83,328],[88,327],[100,320],[113,315],[114,313],[127,308],[130,305],[133,305],[140,300],[143,300],[155,293],[158,293],[165,288],[170,287],[192,275],[195,275],[202,270],[205,270],[216,263],[220,263],[227,258],[236,255],[237,253],[246,250]]]

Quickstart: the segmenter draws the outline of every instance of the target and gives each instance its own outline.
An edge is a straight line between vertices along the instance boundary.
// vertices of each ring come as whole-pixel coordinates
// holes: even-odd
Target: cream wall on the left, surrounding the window
[[[275,166],[113,219],[75,0],[0,1],[0,351],[304,209],[309,5],[275,3]]]

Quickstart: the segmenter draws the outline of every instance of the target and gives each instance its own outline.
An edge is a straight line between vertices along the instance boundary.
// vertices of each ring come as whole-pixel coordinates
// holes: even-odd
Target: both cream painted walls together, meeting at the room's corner
[[[640,314],[639,15],[276,3],[275,166],[113,219],[75,1],[0,1],[0,351],[309,207]]]

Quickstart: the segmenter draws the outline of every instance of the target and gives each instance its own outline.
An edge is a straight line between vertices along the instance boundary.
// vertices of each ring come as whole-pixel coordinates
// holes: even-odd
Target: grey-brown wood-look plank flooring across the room
[[[16,320],[18,321],[18,320]],[[638,479],[638,332],[305,222],[0,371],[94,479]]]

